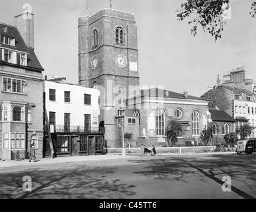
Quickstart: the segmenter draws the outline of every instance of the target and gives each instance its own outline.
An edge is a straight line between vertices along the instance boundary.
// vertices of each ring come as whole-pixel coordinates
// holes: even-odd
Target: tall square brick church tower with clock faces
[[[100,90],[100,121],[110,147],[120,147],[116,117],[139,86],[137,26],[132,13],[102,9],[78,19],[79,83]]]

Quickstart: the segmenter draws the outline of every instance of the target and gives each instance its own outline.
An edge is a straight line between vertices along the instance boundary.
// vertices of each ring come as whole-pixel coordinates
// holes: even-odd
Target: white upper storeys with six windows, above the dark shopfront
[[[70,84],[65,78],[45,80],[44,89],[51,132],[98,132],[98,89]]]

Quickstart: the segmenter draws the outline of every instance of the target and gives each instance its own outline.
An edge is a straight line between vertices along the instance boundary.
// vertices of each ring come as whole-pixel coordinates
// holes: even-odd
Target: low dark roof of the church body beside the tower
[[[135,97],[164,97],[173,99],[193,99],[205,101],[205,99],[201,99],[200,97],[195,97],[192,95],[188,95],[188,97],[186,97],[182,93],[176,93],[165,89],[159,89],[157,87],[154,87],[152,89],[142,89],[140,90],[140,95],[136,95]]]

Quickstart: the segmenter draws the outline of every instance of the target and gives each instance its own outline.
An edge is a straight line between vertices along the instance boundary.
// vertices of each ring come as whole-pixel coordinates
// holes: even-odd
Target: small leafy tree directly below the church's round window
[[[182,131],[182,125],[176,119],[171,119],[166,127],[166,136],[169,146],[170,142],[173,145],[175,144],[177,141],[177,133],[180,131]]]

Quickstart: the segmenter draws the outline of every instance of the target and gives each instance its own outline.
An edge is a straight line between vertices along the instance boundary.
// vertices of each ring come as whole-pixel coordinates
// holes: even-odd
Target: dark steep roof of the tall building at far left
[[[3,30],[4,28],[7,28],[7,30]],[[10,46],[7,44],[0,43],[0,47],[28,53],[27,66],[25,66],[24,68],[26,69],[31,68],[32,70],[40,71],[40,72],[44,70],[39,60],[37,59],[37,56],[35,55],[33,48],[30,48],[25,44],[21,34],[19,33],[19,30],[15,26],[10,26],[10,25],[0,23],[0,34],[10,36],[11,38],[15,38],[15,46]],[[15,64],[6,63],[3,60],[0,60],[0,64],[8,64],[9,66],[15,66]],[[19,67],[22,68],[23,66],[19,66]]]

